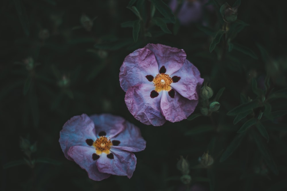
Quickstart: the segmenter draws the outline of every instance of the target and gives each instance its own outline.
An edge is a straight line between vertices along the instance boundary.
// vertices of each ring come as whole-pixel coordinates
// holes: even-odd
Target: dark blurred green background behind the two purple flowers
[[[220,5],[224,2],[219,1]],[[276,1],[242,0],[238,19],[249,26],[238,30],[232,43],[249,50],[225,50],[222,57],[222,41],[209,52],[210,43],[223,23],[215,5],[213,10],[203,7],[202,20],[180,26],[177,33],[167,19],[164,21],[172,34],[146,24],[152,37],[144,36],[141,29],[134,42],[133,29],[121,27],[121,23],[138,19],[126,8],[128,3],[122,0],[0,2],[0,145],[4,168],[1,167],[0,189],[185,190],[200,185],[201,190],[286,190],[286,6]],[[232,5],[234,1],[228,3]],[[145,23],[150,21],[147,16],[150,5],[148,0],[134,4]],[[83,14],[91,20],[97,17],[90,31],[77,27],[83,26],[80,22]],[[155,16],[164,18],[158,10]],[[213,35],[200,30],[202,23],[212,29]],[[161,127],[137,121],[125,105],[119,68],[128,54],[147,43],[184,49],[201,77],[211,83],[214,94],[225,87],[219,99],[219,112],[191,121],[166,122]],[[28,57],[33,58],[32,65],[25,63]],[[268,89],[264,89],[266,78],[270,79]],[[240,105],[243,98],[262,101],[251,87],[252,79],[264,90],[266,98],[280,92],[251,109],[246,118],[234,125],[235,116],[226,113]],[[241,141],[235,141],[238,147],[234,147],[234,152],[220,162],[238,129],[249,119],[257,118],[259,111],[266,114],[260,121],[269,142],[252,126]],[[268,118],[268,112],[274,111],[283,113]],[[131,179],[111,176],[96,182],[64,157],[58,142],[59,131],[68,119],[82,113],[112,113],[141,129],[147,144],[144,151],[135,153],[137,166]],[[200,113],[199,107],[194,113]],[[192,181],[184,185],[176,168],[180,155],[187,156],[193,167],[207,151],[214,164],[191,168]]]

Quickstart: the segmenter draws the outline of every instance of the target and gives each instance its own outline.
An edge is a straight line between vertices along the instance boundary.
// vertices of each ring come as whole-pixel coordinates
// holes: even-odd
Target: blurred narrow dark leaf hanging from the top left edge
[[[20,19],[20,23],[22,25],[22,28],[24,30],[24,33],[26,36],[29,36],[29,20],[28,20],[28,15],[26,13],[26,9],[22,4],[22,1],[20,0],[13,0],[17,14]]]

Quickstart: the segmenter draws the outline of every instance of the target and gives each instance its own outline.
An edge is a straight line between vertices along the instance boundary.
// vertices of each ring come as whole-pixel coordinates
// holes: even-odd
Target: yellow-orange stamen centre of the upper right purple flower
[[[172,83],[172,79],[168,74],[156,74],[153,80],[154,86],[156,86],[155,90],[160,92],[162,90],[169,91],[171,90],[170,84]]]

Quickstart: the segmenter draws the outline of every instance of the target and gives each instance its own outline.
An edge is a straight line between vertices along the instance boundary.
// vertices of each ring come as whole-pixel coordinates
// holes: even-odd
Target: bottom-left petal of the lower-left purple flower
[[[88,176],[92,180],[103,180],[110,177],[110,174],[100,172],[97,167],[97,160],[93,160],[92,155],[95,149],[86,146],[72,146],[68,151],[68,155],[82,168],[88,172]],[[100,158],[102,155],[100,156]],[[104,156],[106,157],[106,156]],[[98,159],[99,160],[99,159]]]

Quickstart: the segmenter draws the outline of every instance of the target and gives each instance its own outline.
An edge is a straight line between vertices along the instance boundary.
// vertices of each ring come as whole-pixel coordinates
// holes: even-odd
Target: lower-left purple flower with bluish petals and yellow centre
[[[111,174],[131,178],[146,141],[139,128],[122,117],[109,114],[77,115],[67,121],[59,139],[65,157],[88,172],[92,180]]]

